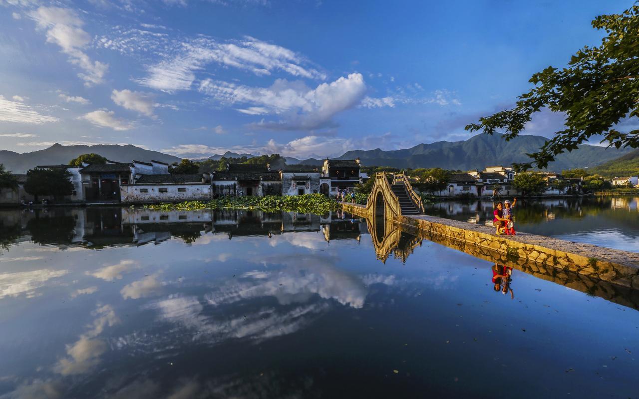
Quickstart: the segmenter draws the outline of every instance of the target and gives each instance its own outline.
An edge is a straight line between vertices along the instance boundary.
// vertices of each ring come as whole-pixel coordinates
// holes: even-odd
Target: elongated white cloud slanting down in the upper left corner
[[[61,47],[62,52],[69,56],[73,65],[83,72],[78,76],[84,80],[85,86],[93,86],[103,82],[108,64],[91,61],[83,49],[91,42],[91,36],[82,29],[84,22],[77,13],[67,8],[39,7],[29,13],[37,22],[38,29],[46,31],[47,42]]]

